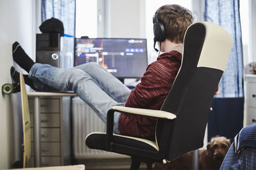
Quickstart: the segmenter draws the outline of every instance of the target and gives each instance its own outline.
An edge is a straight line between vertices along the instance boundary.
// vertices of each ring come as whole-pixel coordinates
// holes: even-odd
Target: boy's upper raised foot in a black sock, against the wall
[[[26,54],[17,41],[12,45],[12,56],[13,60],[28,73],[33,64],[35,64],[35,62]]]

